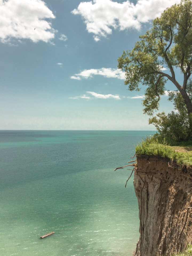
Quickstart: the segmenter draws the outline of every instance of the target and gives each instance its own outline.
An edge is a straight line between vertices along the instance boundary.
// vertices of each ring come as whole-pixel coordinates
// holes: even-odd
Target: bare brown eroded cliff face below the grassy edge
[[[192,207],[190,174],[191,168],[184,166],[180,170],[170,159],[137,156],[134,188],[139,205],[140,238],[133,256],[169,255],[191,243],[192,209],[188,209],[187,215],[187,208]]]

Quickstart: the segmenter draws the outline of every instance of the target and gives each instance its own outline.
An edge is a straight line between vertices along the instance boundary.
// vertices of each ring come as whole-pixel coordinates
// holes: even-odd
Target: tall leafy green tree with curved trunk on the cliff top
[[[141,85],[147,86],[142,104],[144,113],[150,116],[159,109],[159,100],[166,90],[165,84],[170,80],[176,90],[169,92],[169,100],[174,102],[179,114],[185,112],[192,137],[191,25],[191,0],[183,0],[167,8],[160,18],[153,20],[151,30],[139,37],[133,50],[123,51],[118,58],[118,68],[125,70],[124,83],[130,91],[139,91]],[[168,72],[163,70],[165,66]],[[181,85],[175,78],[175,68],[179,68],[183,75]]]

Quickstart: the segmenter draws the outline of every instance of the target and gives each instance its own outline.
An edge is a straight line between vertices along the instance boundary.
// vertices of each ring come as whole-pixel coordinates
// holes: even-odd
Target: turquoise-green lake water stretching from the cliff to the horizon
[[[0,255],[131,255],[133,177],[125,188],[131,171],[113,170],[152,133],[0,131]]]

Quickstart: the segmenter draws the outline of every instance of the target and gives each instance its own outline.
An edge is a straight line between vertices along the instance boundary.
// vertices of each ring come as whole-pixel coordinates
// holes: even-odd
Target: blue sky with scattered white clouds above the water
[[[175,3],[0,0],[0,130],[155,130],[117,58]]]

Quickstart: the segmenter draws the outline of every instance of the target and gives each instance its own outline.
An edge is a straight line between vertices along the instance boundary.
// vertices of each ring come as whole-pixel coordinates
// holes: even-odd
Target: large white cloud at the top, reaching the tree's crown
[[[130,1],[123,3],[111,0],[93,0],[81,2],[73,14],[80,14],[86,23],[89,33],[94,33],[95,41],[112,33],[112,29],[139,30],[141,23],[146,23],[159,17],[163,10],[180,0],[138,0],[136,5]]]

